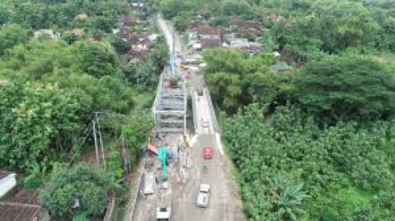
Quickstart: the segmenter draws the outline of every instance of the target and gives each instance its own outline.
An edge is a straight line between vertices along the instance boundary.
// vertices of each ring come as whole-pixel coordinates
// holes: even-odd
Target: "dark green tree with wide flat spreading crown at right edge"
[[[393,113],[394,76],[369,58],[343,55],[310,63],[295,84],[296,101],[330,122],[379,119]]]

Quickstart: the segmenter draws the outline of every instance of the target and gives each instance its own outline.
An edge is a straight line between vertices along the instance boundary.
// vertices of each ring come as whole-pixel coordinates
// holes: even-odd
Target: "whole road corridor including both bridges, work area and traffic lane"
[[[181,67],[190,53],[183,50],[172,26],[160,16],[157,21],[170,59],[159,79],[152,108],[155,128],[126,220],[240,220],[241,202],[227,169],[210,93],[200,73]],[[209,159],[204,149],[210,149]],[[203,207],[201,186],[210,188]]]

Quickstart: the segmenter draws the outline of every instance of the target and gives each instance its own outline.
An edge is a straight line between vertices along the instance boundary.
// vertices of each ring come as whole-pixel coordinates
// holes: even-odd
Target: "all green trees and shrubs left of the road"
[[[133,16],[148,19],[148,8]],[[0,168],[17,172],[21,187],[42,189],[54,220],[103,216],[110,193],[122,201],[153,126],[167,47],[159,36],[146,63],[128,63],[123,54],[133,45],[113,29],[130,11],[123,0],[0,3]],[[73,31],[82,28],[84,35]],[[61,35],[35,37],[41,29]],[[95,112],[106,157],[99,166],[87,160]]]

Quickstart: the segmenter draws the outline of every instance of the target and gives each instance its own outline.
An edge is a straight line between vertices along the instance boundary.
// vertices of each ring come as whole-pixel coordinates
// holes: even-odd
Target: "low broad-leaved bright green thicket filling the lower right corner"
[[[319,128],[300,111],[278,108],[267,123],[253,105],[223,126],[250,220],[390,221],[395,215],[393,122]]]

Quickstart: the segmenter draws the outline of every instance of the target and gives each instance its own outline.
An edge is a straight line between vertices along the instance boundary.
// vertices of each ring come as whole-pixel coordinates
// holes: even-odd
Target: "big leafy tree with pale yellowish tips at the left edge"
[[[73,93],[17,76],[0,88],[2,167],[23,170],[35,162],[50,166],[52,158],[71,151],[82,111]]]

